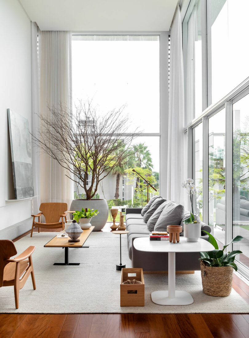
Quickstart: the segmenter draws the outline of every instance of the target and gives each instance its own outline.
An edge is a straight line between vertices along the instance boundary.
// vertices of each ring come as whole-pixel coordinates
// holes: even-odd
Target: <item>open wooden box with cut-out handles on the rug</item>
[[[129,274],[133,274],[132,276]],[[136,275],[135,275],[136,274]],[[142,284],[122,284],[127,280],[136,280]],[[130,293],[134,290],[135,293]],[[144,280],[142,268],[125,268],[121,272],[120,306],[144,306]]]

